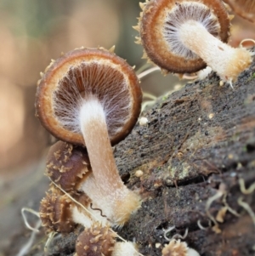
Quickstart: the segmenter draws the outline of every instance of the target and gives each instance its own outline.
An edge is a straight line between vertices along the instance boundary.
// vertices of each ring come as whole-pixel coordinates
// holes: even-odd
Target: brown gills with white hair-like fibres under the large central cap
[[[64,128],[81,134],[80,109],[89,98],[98,98],[111,138],[129,119],[133,102],[127,82],[121,71],[96,60],[71,66],[54,92],[54,115]]]

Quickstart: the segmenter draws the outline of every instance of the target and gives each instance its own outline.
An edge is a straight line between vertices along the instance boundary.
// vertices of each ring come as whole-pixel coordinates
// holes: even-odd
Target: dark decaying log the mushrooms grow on
[[[118,233],[140,253],[161,255],[167,238],[188,229],[184,241],[201,255],[255,255],[255,220],[242,203],[255,212],[255,190],[245,191],[255,183],[255,62],[234,88],[213,73],[188,83],[116,145],[122,179],[143,197]],[[72,255],[76,237],[55,240],[48,255]]]

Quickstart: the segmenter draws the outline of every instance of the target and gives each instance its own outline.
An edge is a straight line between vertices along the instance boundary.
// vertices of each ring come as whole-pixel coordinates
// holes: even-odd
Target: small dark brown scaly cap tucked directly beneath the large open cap
[[[50,147],[46,175],[64,191],[76,191],[89,174],[91,167],[84,148],[60,140]]]

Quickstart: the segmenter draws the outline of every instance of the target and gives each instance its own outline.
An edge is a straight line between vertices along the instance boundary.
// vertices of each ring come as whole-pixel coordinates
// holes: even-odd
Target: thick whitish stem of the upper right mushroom
[[[178,33],[184,46],[200,56],[224,82],[231,84],[252,63],[252,54],[245,48],[222,43],[195,20],[185,22]]]

